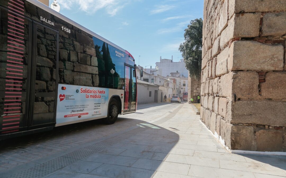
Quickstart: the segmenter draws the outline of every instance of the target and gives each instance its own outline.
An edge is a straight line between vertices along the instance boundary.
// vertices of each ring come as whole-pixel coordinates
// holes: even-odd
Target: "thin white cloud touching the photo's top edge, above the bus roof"
[[[118,2],[118,0],[57,0],[59,5],[66,9],[80,9],[86,13],[95,13],[100,9],[105,9],[106,12],[114,16],[122,9],[128,0]],[[125,5],[124,5],[125,3]],[[123,5],[122,5],[123,4]]]

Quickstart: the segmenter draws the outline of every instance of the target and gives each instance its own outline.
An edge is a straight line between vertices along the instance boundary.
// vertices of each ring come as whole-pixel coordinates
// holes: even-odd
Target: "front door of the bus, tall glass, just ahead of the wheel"
[[[124,87],[124,112],[136,110],[136,70],[125,66],[125,87]]]

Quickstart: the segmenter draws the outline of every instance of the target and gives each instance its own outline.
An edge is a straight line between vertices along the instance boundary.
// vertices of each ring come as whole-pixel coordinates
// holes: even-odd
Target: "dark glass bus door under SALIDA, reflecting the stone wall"
[[[55,123],[57,101],[59,34],[52,28],[33,22],[32,38],[29,126],[52,124]]]

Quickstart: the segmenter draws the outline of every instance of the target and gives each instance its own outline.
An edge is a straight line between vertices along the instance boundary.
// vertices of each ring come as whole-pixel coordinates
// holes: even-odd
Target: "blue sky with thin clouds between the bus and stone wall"
[[[50,4],[52,0],[49,0]],[[177,62],[184,29],[203,17],[203,0],[57,0],[60,13],[132,54],[138,65]],[[150,67],[150,66],[149,66]],[[149,68],[146,67],[146,68]]]

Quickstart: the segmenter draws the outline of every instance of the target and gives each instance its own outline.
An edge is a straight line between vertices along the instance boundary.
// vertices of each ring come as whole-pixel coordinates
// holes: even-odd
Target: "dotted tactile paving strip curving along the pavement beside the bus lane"
[[[177,112],[180,111],[183,105],[175,109],[172,113],[168,114],[166,117],[157,120],[153,122],[152,124],[162,124],[163,122],[166,122],[170,118],[172,118]],[[92,154],[95,154],[99,152],[100,150],[103,150],[104,148],[107,148],[109,146],[112,146],[130,136],[133,136],[134,134],[138,132],[142,132],[144,130],[147,130],[148,128],[142,128],[138,127],[133,130],[130,130],[128,132],[119,134],[117,136],[114,136],[112,138],[108,138],[106,140],[103,140],[101,142],[98,142],[96,144],[92,144],[90,146],[87,146],[85,148],[82,148],[80,150],[68,153],[64,156],[57,157],[55,159],[52,159],[50,161],[47,161],[46,163],[42,163],[40,165],[37,165],[35,167],[32,167],[30,169],[26,169],[25,171],[16,173],[14,175],[11,175],[11,178],[21,177],[21,178],[30,178],[30,177],[43,177],[45,175],[48,175],[58,169],[61,169],[69,164],[72,164],[78,160],[84,159],[88,156],[91,156]]]

